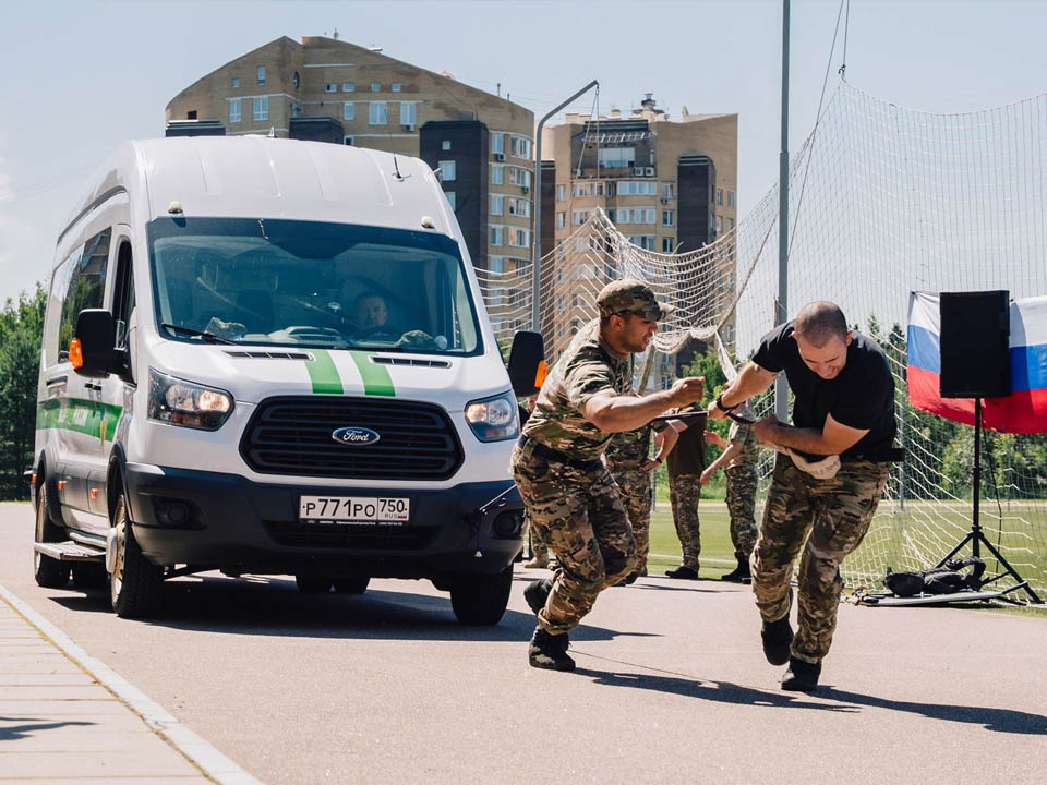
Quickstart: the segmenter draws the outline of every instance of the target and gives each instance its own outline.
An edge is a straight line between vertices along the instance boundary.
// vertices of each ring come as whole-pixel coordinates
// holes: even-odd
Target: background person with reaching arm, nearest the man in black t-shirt
[[[753,410],[747,404],[737,412],[744,420],[754,418]],[[731,543],[734,545],[734,557],[738,560],[734,571],[722,576],[720,580],[748,583],[751,580],[749,556],[756,544],[756,490],[759,484],[757,464],[760,448],[753,426],[737,421],[731,424],[726,442],[719,436],[711,440],[725,449],[701,473],[701,484],[708,483],[720,467],[724,467],[723,473],[727,479],[727,512],[731,516]]]

